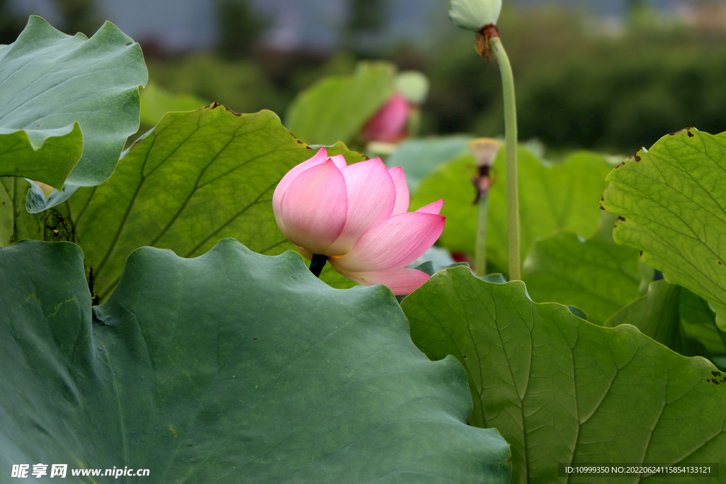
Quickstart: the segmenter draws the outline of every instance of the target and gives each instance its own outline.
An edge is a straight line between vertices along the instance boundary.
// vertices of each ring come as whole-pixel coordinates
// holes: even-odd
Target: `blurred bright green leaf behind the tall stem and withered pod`
[[[452,252],[475,253],[476,206],[471,178],[476,165],[470,155],[439,166],[418,187],[412,208],[443,198],[441,215],[446,227],[439,243]],[[519,208],[522,259],[537,237],[557,229],[584,237],[597,229],[597,201],[607,186],[605,176],[612,165],[602,155],[576,152],[563,163],[539,160],[529,149],[518,149]],[[489,191],[489,223],[486,229],[488,260],[499,270],[508,267],[507,193],[505,149],[494,161],[494,186]]]

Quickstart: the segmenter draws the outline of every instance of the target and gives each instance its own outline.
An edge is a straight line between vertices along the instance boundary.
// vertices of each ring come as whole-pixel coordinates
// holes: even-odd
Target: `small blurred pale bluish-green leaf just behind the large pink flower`
[[[468,153],[467,143],[471,135],[435,136],[409,139],[401,142],[393,155],[386,160],[388,166],[400,166],[406,173],[411,193],[415,193],[421,180],[434,168]]]

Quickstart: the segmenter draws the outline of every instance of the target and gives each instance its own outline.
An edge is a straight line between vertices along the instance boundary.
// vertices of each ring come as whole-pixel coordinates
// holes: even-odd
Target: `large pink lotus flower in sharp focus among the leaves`
[[[321,148],[280,180],[272,196],[277,226],[301,254],[326,255],[343,276],[364,286],[386,284],[409,294],[428,275],[406,268],[444,230],[444,200],[407,212],[409,191],[400,166],[379,158],[346,165]]]

